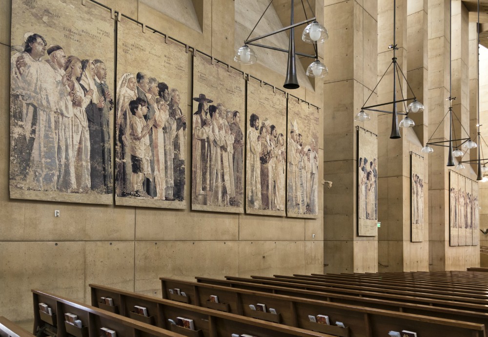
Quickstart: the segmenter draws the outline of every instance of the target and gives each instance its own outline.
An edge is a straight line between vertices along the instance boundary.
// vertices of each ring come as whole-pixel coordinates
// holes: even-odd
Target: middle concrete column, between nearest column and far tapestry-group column
[[[423,102],[424,82],[427,78],[427,57],[424,44],[427,43],[427,11],[423,0],[396,1],[396,51],[397,63],[402,70],[395,73],[396,100],[416,96]],[[379,0],[378,8],[378,80],[392,62],[393,52],[393,1]],[[409,15],[407,15],[409,14]],[[409,27],[410,29],[407,29]],[[409,48],[412,48],[411,54]],[[411,65],[407,60],[412,60]],[[393,65],[378,86],[378,103],[393,99]],[[408,71],[409,70],[409,71]],[[408,76],[415,83],[410,90],[402,76]],[[398,76],[400,75],[400,77]],[[400,79],[400,81],[399,81]],[[410,84],[410,83],[409,83]],[[410,84],[411,85],[411,84]],[[408,102],[409,103],[409,102]],[[399,112],[406,111],[408,103],[398,103]],[[392,105],[385,106],[392,111]],[[416,127],[421,136],[425,133],[424,114],[413,117],[419,123]],[[404,116],[399,116],[399,122]],[[378,231],[378,262],[380,272],[428,270],[427,235],[422,242],[411,242],[411,192],[410,151],[420,153],[423,140],[419,140],[413,128],[400,129],[401,139],[390,139],[391,114],[378,117],[379,166],[379,219],[382,226]],[[426,167],[427,172],[427,167]],[[426,174],[427,176],[427,174]],[[425,179],[427,181],[427,179]],[[425,215],[427,219],[427,214]]]

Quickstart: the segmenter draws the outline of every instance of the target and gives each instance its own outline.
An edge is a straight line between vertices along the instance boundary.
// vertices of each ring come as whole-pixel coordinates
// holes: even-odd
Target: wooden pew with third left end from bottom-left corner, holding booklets
[[[112,307],[112,310],[116,310],[120,315],[131,316],[135,319],[143,319],[146,321],[149,320],[151,324],[159,327],[178,330],[180,334],[185,336],[230,337],[232,334],[250,334],[259,337],[333,337],[333,335],[329,335],[327,333],[314,332],[302,328],[286,326],[284,324],[268,322],[261,319],[234,315],[213,309],[197,307],[184,302],[176,302],[173,300],[136,294],[111,287],[90,284],[90,288],[91,300],[94,306],[100,305],[100,297],[110,297],[113,299],[115,305],[115,307]],[[178,298],[181,301],[184,301],[185,299],[182,297],[184,296]],[[186,300],[188,300],[188,298],[186,298]],[[148,315],[150,315],[150,317],[131,313],[134,310],[135,305],[147,308]],[[105,306],[103,307],[107,309]],[[198,332],[177,327],[168,323],[168,318],[176,320],[176,317],[178,316],[193,319],[195,329],[197,329]],[[481,334],[481,331],[484,332],[484,326],[482,327],[483,330],[475,330],[477,329],[476,326],[466,326],[466,328],[477,331],[479,334]],[[334,332],[342,329],[338,327],[333,328],[335,328],[333,329]]]

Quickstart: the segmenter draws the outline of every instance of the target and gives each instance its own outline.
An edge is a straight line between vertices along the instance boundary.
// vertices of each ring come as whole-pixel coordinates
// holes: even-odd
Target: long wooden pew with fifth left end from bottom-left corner
[[[343,291],[339,289],[336,291],[335,288],[327,287],[307,287],[304,288],[293,288],[289,287],[287,284],[285,286],[280,285],[267,285],[261,283],[248,283],[242,281],[230,281],[224,279],[214,279],[208,277],[195,277],[198,283],[220,285],[230,288],[247,289],[252,291],[259,291],[272,294],[281,294],[289,296],[298,296],[303,298],[325,298],[326,301],[346,303],[346,304],[361,304],[361,301],[367,300],[372,303],[384,302],[386,301],[402,301],[410,304],[419,305],[429,305],[432,307],[440,308],[451,308],[451,309],[461,309],[475,312],[486,312],[487,305],[468,303],[461,301],[453,301],[450,299],[443,299],[441,296],[439,298],[431,297],[421,297],[412,295],[401,295],[401,294],[382,294],[374,292],[365,292],[359,290],[347,290]],[[371,305],[368,305],[371,306]],[[381,308],[381,307],[380,307]],[[391,310],[395,310],[394,308]]]

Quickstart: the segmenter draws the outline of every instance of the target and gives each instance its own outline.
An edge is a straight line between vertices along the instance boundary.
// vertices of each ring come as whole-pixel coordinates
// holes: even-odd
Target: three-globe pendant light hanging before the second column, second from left
[[[396,139],[400,138],[400,127],[412,127],[415,126],[415,122],[408,117],[409,113],[417,113],[417,112],[422,112],[424,111],[424,105],[417,101],[417,98],[415,97],[415,94],[413,93],[413,90],[408,84],[407,78],[405,77],[402,68],[398,65],[397,63],[397,58],[396,58],[396,50],[398,50],[397,44],[396,44],[396,0],[393,1],[393,44],[390,44],[388,46],[389,49],[393,50],[393,57],[391,58],[391,63],[388,65],[388,68],[386,68],[385,73],[383,76],[380,78],[378,81],[378,84],[374,87],[374,89],[371,91],[371,94],[367,98],[366,102],[363,104],[363,107],[361,108],[361,111],[354,117],[354,120],[357,122],[367,122],[370,120],[369,114],[365,111],[376,111],[376,112],[386,112],[386,113],[391,113],[392,120],[391,120],[391,134],[390,138],[391,139]],[[377,104],[377,105],[369,105],[365,106],[369,98],[373,95],[374,91],[380,84],[381,80],[385,77],[386,73],[392,67],[393,65],[393,101],[388,102],[388,103],[383,103],[383,104]],[[405,79],[405,82],[408,85],[408,88],[410,89],[413,97],[412,98],[405,98],[403,96],[403,91],[402,91],[402,84],[401,84],[401,79],[400,74],[402,75],[403,79]],[[402,93],[402,99],[397,100],[396,97],[396,85],[397,85],[397,77],[398,77],[398,83],[400,84],[400,92]],[[413,101],[412,101],[413,100]],[[405,106],[405,113],[398,112],[397,109],[397,104],[402,103],[405,105],[405,102],[412,101],[408,106]],[[377,109],[378,106],[384,106],[384,105],[390,105],[393,104],[393,110],[392,111],[386,111],[386,110],[379,110]],[[398,124],[398,115],[405,115],[405,118],[400,122],[400,125]]]

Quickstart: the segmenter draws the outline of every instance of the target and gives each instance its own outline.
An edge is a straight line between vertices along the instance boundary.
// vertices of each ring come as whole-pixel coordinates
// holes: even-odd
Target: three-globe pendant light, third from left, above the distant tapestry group
[[[430,136],[429,140],[427,141],[427,144],[425,147],[422,148],[423,153],[432,153],[434,152],[434,149],[431,146],[440,146],[440,147],[448,147],[447,151],[447,164],[446,166],[454,166],[454,157],[462,157],[463,151],[459,148],[462,147],[465,150],[469,150],[471,148],[477,147],[477,144],[471,140],[471,138],[459,138],[459,139],[452,139],[452,131],[453,131],[453,126],[452,126],[452,116],[456,117],[456,119],[459,121],[459,124],[463,128],[463,130],[466,132],[466,134],[469,135],[469,132],[466,131],[464,128],[463,124],[459,120],[459,118],[456,116],[456,114],[452,111],[452,101],[456,99],[456,97],[452,97],[452,69],[451,69],[451,49],[452,49],[452,17],[451,17],[451,7],[452,4],[449,5],[449,97],[446,99],[449,101],[449,108],[447,109],[447,113],[444,115],[444,118],[441,120],[437,128],[434,130],[432,135]],[[479,15],[479,0],[478,0],[478,15]],[[478,18],[479,22],[479,18]],[[479,23],[478,23],[479,26]],[[478,28],[479,31],[479,28]],[[479,33],[478,33],[478,41],[479,41]],[[478,62],[479,62],[479,55],[478,55]],[[479,72],[479,71],[478,71]],[[479,77],[479,74],[478,74]],[[479,82],[478,82],[479,86]],[[478,88],[479,91],[479,88]],[[478,95],[479,96],[479,95]],[[441,124],[444,122],[446,117],[449,116],[449,140],[447,141],[440,141],[440,142],[430,142],[432,137],[434,136],[435,132],[441,126]],[[479,103],[478,103],[478,124],[479,124]],[[479,126],[478,126],[478,131],[479,131]],[[479,132],[478,132],[479,135]],[[456,135],[454,134],[454,138],[456,138]],[[458,144],[459,142],[459,144]],[[447,143],[447,145],[446,145]],[[456,144],[454,146],[454,143]],[[479,157],[478,157],[479,158]],[[462,158],[461,158],[462,159]],[[465,166],[463,163],[467,163],[469,161],[459,161],[458,164],[456,165],[456,169],[464,169]]]

